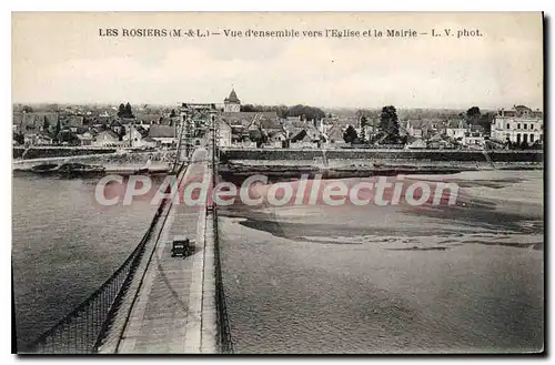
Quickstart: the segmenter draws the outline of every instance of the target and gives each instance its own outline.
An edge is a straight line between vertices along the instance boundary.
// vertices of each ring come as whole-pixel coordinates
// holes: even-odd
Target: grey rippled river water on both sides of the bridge
[[[543,172],[417,179],[456,181],[457,204],[222,210],[235,352],[541,349]],[[104,282],[154,214],[148,200],[98,206],[95,182],[13,178],[19,344]]]

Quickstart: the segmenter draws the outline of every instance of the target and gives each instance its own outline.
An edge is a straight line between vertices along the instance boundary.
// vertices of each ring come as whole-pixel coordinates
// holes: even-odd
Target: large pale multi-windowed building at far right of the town
[[[543,143],[544,115],[525,105],[515,105],[513,110],[500,110],[492,122],[492,140],[516,144]]]

